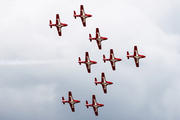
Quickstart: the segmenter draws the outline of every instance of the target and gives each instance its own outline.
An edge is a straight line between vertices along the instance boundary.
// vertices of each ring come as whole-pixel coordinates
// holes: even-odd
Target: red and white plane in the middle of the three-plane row
[[[104,63],[105,63],[106,61],[110,61],[113,70],[116,69],[116,68],[115,68],[115,62],[121,61],[121,60],[122,60],[122,59],[120,59],[120,58],[115,58],[115,57],[114,57],[113,49],[110,49],[110,58],[109,58],[109,59],[106,59],[105,55],[103,55],[103,61],[104,61]]]

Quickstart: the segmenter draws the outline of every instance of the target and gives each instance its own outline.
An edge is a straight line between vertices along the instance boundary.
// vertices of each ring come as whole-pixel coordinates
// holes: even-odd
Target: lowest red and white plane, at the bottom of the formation
[[[102,107],[104,105],[97,103],[95,95],[92,95],[92,104],[88,104],[88,101],[86,100],[86,107],[89,108],[89,106],[93,107],[95,115],[98,116],[98,107]]]

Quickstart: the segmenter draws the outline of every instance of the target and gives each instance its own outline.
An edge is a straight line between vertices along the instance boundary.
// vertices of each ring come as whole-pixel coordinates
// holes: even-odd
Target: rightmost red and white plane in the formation
[[[134,46],[134,55],[129,55],[129,52],[127,51],[127,58],[133,57],[136,67],[139,67],[139,59],[140,58],[145,58],[146,56],[138,54],[137,46]]]

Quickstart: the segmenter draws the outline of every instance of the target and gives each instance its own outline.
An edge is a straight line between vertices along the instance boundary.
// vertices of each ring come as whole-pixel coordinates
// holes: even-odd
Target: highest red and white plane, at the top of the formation
[[[81,17],[81,21],[83,23],[83,26],[86,27],[86,18],[88,17],[92,17],[92,15],[90,14],[86,14],[84,12],[84,7],[83,5],[80,6],[80,15],[76,15],[76,11],[74,11],[74,18],[76,19],[76,17]]]

